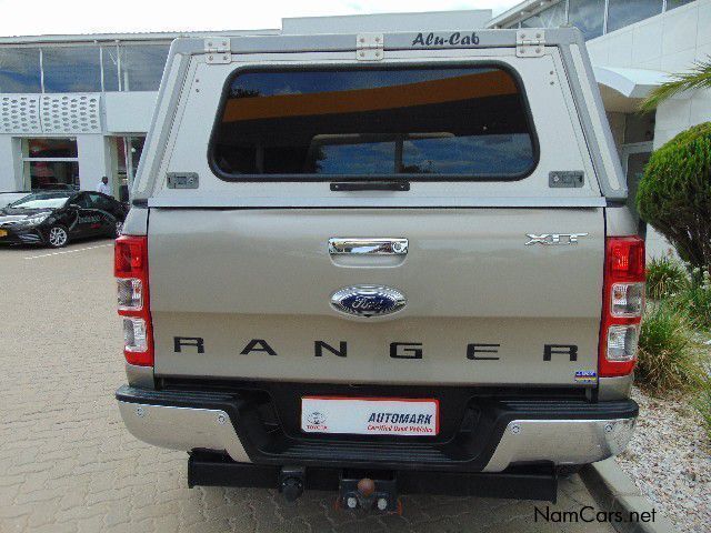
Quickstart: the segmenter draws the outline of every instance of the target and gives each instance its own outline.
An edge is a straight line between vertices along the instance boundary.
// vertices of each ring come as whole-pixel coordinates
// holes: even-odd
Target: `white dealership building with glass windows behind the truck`
[[[525,0],[489,10],[283,19],[282,28],[202,33],[0,38],[0,191],[53,183],[124,197],[143,149],[170,41],[181,36],[578,27],[592,59],[628,184],[654,148],[711,120],[711,91],[680,94],[655,113],[654,87],[711,56],[711,0]],[[652,232],[650,244],[664,244]]]

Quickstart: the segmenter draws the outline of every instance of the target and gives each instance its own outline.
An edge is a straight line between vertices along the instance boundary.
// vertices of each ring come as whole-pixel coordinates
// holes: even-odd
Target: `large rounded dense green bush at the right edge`
[[[711,122],[652,153],[637,192],[642,219],[693,266],[711,266]]]

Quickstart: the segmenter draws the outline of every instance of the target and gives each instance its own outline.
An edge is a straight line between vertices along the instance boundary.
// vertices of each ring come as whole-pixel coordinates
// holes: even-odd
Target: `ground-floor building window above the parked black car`
[[[76,139],[26,139],[24,182],[31,190],[79,189]]]

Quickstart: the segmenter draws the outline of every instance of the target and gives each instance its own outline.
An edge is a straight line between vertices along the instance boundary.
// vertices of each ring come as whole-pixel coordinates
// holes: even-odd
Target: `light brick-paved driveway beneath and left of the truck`
[[[134,440],[123,383],[110,241],[61,252],[0,249],[0,532],[608,532],[533,522],[532,502],[404,497],[403,516],[296,504],[276,491],[187,487],[187,455]],[[541,507],[545,503],[538,504]],[[557,510],[593,505],[578,477]]]

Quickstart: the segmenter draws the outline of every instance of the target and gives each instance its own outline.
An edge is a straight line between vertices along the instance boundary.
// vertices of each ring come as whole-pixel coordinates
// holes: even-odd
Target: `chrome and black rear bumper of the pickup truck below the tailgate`
[[[398,471],[501,472],[601,461],[624,450],[638,414],[632,400],[497,400],[482,402],[475,425],[447,442],[334,440],[266,428],[259,408],[239,393],[122,386],[117,400],[128,430],[157,446],[227,452],[238,463]]]

